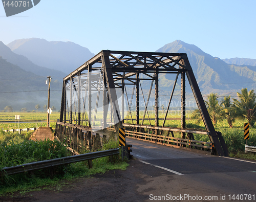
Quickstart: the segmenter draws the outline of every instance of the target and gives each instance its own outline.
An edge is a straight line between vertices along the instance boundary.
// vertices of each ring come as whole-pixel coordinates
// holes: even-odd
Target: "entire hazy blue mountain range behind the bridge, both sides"
[[[136,50],[135,50],[136,51]],[[256,87],[255,59],[213,57],[199,47],[176,40],[156,50],[156,52],[186,53],[193,68],[203,95],[218,93],[220,96],[236,96],[242,88]],[[60,109],[63,77],[76,70],[80,65],[93,57],[89,49],[73,42],[47,41],[30,38],[17,39],[9,44],[0,41],[0,110],[12,105],[14,110],[26,107],[34,110],[35,105],[47,104],[47,76],[52,77],[50,106]],[[175,76],[159,76],[159,102],[167,105]],[[148,92],[149,81],[142,81],[143,89]],[[127,87],[132,94],[132,87]],[[154,94],[154,89],[152,91]],[[160,95],[159,94],[159,95]],[[194,101],[193,94],[186,80],[187,102]],[[143,98],[140,95],[140,101]],[[152,98],[150,102],[154,102]],[[179,107],[180,82],[177,82],[173,105]],[[165,104],[166,103],[166,104]],[[143,105],[143,103],[141,103]],[[154,104],[152,104],[153,106]],[[148,105],[151,106],[151,105]],[[196,107],[196,105],[191,105]]]

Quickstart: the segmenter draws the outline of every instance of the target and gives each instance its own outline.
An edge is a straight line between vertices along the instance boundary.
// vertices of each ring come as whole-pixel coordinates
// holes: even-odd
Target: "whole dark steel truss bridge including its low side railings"
[[[160,125],[159,78],[162,74],[175,74],[176,79]],[[166,119],[179,75],[181,127],[167,127]],[[186,77],[206,130],[186,128]],[[155,94],[153,98],[152,94]],[[153,119],[149,109],[152,107],[149,105],[152,99]],[[143,107],[140,107],[140,101]],[[117,132],[118,127],[125,127],[127,137],[187,150],[228,155],[221,132],[217,132],[212,125],[185,53],[102,50],[63,78],[60,119],[56,123],[56,136],[60,140],[66,140],[76,151],[84,147],[93,149],[99,130],[108,128]],[[175,137],[177,133],[179,138]],[[196,141],[195,133],[208,136],[209,141]]]

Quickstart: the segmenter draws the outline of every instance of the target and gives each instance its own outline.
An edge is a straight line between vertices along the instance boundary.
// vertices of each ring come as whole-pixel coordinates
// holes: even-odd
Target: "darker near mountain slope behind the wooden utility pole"
[[[35,110],[35,105],[42,107],[47,104],[48,85],[45,77],[27,72],[19,66],[8,62],[0,56],[0,110],[11,105],[14,110],[26,107]],[[50,105],[60,107],[62,83],[58,80],[51,82]]]

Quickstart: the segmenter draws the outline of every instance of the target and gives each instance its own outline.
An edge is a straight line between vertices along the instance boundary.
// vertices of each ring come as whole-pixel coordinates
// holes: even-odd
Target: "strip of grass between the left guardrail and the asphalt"
[[[103,159],[103,160],[102,160]],[[30,191],[39,191],[42,189],[49,189],[60,191],[62,186],[68,184],[74,178],[90,177],[96,173],[105,173],[109,170],[121,169],[125,170],[129,166],[126,162],[111,163],[108,159],[101,158],[93,160],[93,168],[88,168],[87,162],[78,162],[70,164],[65,168],[65,174],[63,176],[40,177],[35,175],[29,175],[28,173],[19,174],[21,176],[15,176],[9,179],[8,185],[0,185],[0,196],[11,196],[13,193],[25,194]],[[18,180],[17,180],[18,179]],[[0,183],[1,184],[1,183]]]

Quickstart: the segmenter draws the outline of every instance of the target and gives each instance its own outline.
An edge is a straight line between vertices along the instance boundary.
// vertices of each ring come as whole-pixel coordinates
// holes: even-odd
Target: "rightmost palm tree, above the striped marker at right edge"
[[[234,100],[234,105],[237,107],[238,115],[243,117],[253,126],[255,122],[254,113],[256,111],[256,95],[254,90],[248,92],[247,88],[241,89],[241,93],[237,93],[239,100]]]

